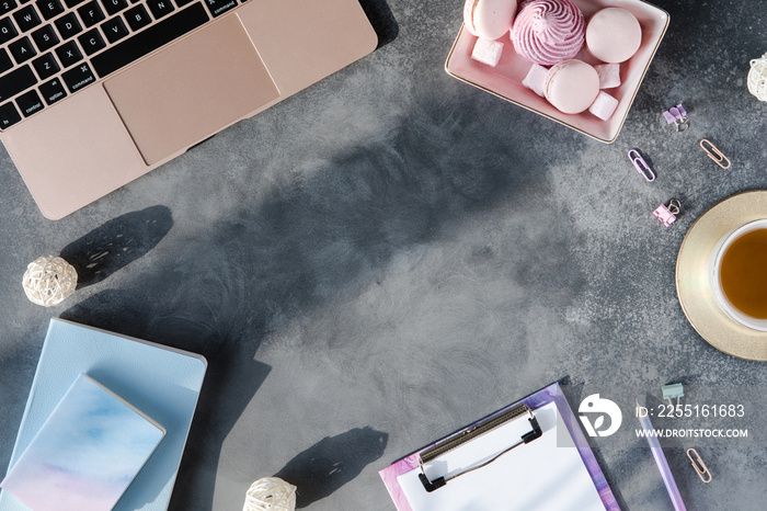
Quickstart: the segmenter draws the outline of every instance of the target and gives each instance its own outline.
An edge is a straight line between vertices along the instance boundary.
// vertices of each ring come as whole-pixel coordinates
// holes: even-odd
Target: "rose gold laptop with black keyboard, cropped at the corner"
[[[58,219],[377,43],[357,0],[0,0],[0,138]]]

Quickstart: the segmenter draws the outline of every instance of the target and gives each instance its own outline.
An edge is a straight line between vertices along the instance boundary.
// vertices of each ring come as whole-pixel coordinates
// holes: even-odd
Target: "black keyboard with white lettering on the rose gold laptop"
[[[0,0],[0,129],[236,7],[238,0]]]

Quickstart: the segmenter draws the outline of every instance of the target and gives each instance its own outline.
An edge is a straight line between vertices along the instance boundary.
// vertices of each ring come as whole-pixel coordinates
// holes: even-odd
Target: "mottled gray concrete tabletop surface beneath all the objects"
[[[767,104],[746,90],[762,3],[657,1],[671,26],[613,145],[447,76],[462,2],[364,3],[371,55],[62,220],[0,152],[0,466],[60,316],[208,359],[173,510],[241,509],[275,474],[301,508],[393,510],[379,469],[562,377],[574,408],[600,393],[625,410],[592,446],[627,510],[672,509],[629,431],[636,396],[682,381],[687,402],[743,402],[713,424],[748,439],[677,439],[668,459],[688,509],[765,509],[765,365],[701,339],[674,285],[692,222],[767,189]],[[661,118],[679,101],[685,134]],[[651,212],[671,197],[666,229]],[[47,253],[105,256],[44,309],[20,282]]]

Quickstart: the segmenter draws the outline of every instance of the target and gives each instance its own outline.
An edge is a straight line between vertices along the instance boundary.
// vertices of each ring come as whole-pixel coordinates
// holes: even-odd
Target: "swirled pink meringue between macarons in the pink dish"
[[[571,0],[533,0],[514,20],[511,37],[525,60],[552,66],[573,58],[585,33],[583,13]]]

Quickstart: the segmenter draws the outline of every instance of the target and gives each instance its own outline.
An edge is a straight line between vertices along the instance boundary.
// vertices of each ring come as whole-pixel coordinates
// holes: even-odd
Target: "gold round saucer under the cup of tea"
[[[676,293],[685,316],[709,344],[740,359],[767,361],[767,332],[744,327],[724,314],[708,280],[709,258],[722,236],[759,218],[767,218],[764,190],[732,195],[700,215],[679,247]]]

